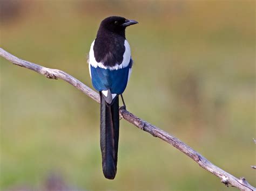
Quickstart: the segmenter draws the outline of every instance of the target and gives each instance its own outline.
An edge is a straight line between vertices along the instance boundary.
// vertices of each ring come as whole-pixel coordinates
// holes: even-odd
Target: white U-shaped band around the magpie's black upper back
[[[93,51],[94,43],[95,43],[95,40],[93,40],[93,42],[91,44],[89,60],[88,60],[89,65],[91,65],[92,67],[95,67],[95,68],[100,67],[100,68],[104,68],[104,69],[117,70],[117,69],[125,68],[129,65],[130,59],[131,59],[131,48],[130,48],[130,45],[127,40],[124,41],[125,51],[124,51],[122,63],[120,65],[118,65],[116,63],[116,65],[114,65],[113,67],[104,66],[102,62],[96,61],[95,56],[94,56],[94,51]]]

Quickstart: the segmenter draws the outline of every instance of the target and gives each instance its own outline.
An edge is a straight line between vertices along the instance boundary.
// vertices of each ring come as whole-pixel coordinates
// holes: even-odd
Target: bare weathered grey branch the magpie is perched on
[[[62,70],[46,68],[29,61],[21,60],[16,56],[10,54],[9,52],[6,52],[2,48],[0,48],[0,56],[5,58],[6,60],[9,60],[15,65],[31,69],[39,74],[42,74],[48,77],[49,79],[62,79],[70,83],[72,86],[76,87],[80,91],[82,91],[87,96],[91,97],[96,102],[98,103],[100,102],[98,93],[93,91],[91,88],[85,86],[85,84],[75,79],[75,77],[63,72]],[[240,190],[256,190],[256,188],[251,186],[245,180],[245,178],[242,177],[238,179],[235,176],[231,175],[230,173],[225,172],[223,169],[213,165],[210,161],[208,161],[205,157],[203,157],[203,155],[193,150],[193,148],[186,145],[184,142],[181,142],[181,140],[179,140],[178,138],[157,128],[157,126],[154,126],[149,122],[146,122],[143,119],[140,119],[139,117],[133,115],[131,112],[125,110],[123,107],[120,107],[119,115],[120,117],[124,118],[127,122],[133,124],[134,126],[137,126],[137,128],[143,131],[146,131],[150,133],[152,136],[158,137],[164,140],[165,142],[169,143],[170,145],[178,148],[179,151],[183,152],[188,157],[196,161],[198,165],[206,169],[206,171],[209,171],[215,176],[218,176],[221,182],[224,183],[227,187],[228,185],[231,185],[233,187],[239,188]]]

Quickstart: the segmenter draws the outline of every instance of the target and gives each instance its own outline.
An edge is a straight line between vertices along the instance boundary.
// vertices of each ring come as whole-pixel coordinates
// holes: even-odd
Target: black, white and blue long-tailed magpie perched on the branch
[[[93,87],[100,95],[100,150],[103,174],[114,179],[117,173],[119,139],[119,100],[132,72],[131,49],[125,38],[127,26],[136,20],[107,17],[100,23],[89,53],[89,72]]]

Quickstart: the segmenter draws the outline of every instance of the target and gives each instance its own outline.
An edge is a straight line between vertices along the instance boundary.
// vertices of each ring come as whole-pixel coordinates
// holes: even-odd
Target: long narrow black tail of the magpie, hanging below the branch
[[[117,151],[119,139],[118,97],[112,105],[107,105],[100,93],[100,149],[102,150],[103,174],[114,179],[117,173]]]

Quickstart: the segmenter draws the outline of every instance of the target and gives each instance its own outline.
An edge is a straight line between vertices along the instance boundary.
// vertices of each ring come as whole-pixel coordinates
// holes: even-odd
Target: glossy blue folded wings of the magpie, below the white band
[[[129,69],[132,67],[132,59],[127,67],[121,69],[104,69],[91,67],[92,85],[96,90],[110,89],[112,94],[122,94],[126,88],[129,76]]]

